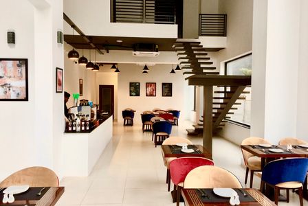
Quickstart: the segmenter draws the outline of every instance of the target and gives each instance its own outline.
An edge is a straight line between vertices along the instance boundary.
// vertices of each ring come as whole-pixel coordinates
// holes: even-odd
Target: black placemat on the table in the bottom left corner
[[[25,201],[25,200],[39,201],[44,196],[44,194],[48,190],[50,190],[50,187],[46,187],[46,189],[41,192],[41,195],[36,195],[40,192],[41,189],[43,189],[43,187],[30,187],[29,190],[23,193],[14,194],[15,201]],[[0,192],[0,203],[2,203],[2,200],[3,200],[3,192]]]

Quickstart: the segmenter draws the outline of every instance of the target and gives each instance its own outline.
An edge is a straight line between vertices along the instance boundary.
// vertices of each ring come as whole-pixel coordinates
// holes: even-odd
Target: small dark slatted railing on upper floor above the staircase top
[[[227,36],[227,14],[199,14],[199,36]]]

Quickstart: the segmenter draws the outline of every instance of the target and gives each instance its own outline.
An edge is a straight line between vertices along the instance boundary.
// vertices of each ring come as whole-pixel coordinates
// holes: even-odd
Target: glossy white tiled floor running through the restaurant
[[[173,136],[187,137],[189,122],[173,126]],[[202,144],[201,137],[188,137]],[[241,149],[223,138],[213,141],[214,164],[230,170],[243,184],[245,168],[241,166]],[[58,206],[167,206],[172,203],[167,192],[166,168],[162,162],[161,148],[155,148],[151,133],[142,133],[141,125],[133,127],[113,124],[113,139],[102,153],[94,170],[87,177],[65,177],[60,185],[65,193]],[[244,185],[244,184],[243,184]],[[260,179],[254,176],[254,187]],[[245,185],[244,185],[245,187]],[[290,203],[299,205],[298,195],[290,194]],[[184,204],[182,204],[184,205]],[[308,205],[304,201],[304,205]]]

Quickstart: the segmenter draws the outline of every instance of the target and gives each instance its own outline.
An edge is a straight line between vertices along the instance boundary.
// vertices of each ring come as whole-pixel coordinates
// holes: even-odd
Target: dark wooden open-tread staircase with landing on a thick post
[[[186,78],[188,85],[203,86],[203,125],[195,125],[193,132],[203,131],[203,147],[212,153],[213,131],[223,126],[223,119],[232,114],[232,109],[236,109],[232,107],[239,103],[236,100],[243,99],[241,94],[245,87],[251,85],[251,76],[219,75],[214,71],[216,67],[212,67],[213,62],[210,61],[206,48],[195,39],[178,39],[173,47],[177,52],[181,69],[188,70],[183,74],[192,74]],[[213,93],[214,86],[230,89]]]

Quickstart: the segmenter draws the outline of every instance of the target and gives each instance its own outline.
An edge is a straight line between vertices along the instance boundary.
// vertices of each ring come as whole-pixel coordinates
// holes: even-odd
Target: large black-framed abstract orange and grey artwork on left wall
[[[0,58],[0,101],[28,101],[27,58]]]

